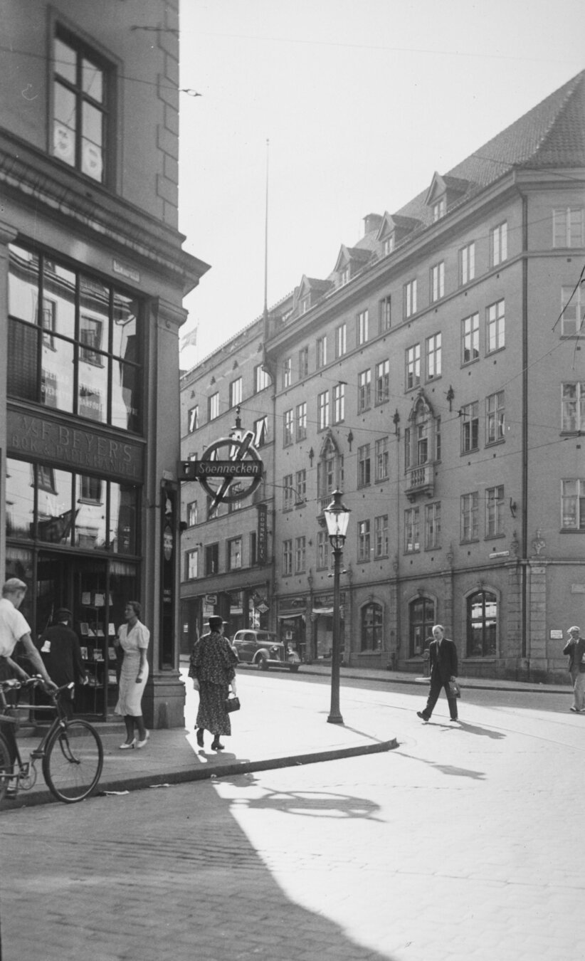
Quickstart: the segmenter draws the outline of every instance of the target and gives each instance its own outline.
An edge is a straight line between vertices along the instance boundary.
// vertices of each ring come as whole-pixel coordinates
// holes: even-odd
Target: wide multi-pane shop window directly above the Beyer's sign
[[[9,251],[9,394],[140,431],[138,303],[55,259]]]

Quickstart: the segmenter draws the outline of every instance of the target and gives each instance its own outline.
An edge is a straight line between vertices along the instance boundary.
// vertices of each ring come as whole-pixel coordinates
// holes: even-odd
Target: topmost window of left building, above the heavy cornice
[[[58,30],[53,47],[53,134],[51,153],[104,184],[111,70],[71,34]]]

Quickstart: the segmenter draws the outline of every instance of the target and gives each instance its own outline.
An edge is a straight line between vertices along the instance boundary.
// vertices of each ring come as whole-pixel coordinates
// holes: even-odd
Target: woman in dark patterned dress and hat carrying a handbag
[[[226,700],[230,687],[235,694],[235,670],[237,655],[233,653],[224,634],[221,617],[209,618],[209,632],[202,634],[193,645],[189,675],[199,683],[199,710],[197,712],[197,744],[204,746],[204,731],[213,734],[212,751],[223,751],[220,734],[231,734],[230,715]]]

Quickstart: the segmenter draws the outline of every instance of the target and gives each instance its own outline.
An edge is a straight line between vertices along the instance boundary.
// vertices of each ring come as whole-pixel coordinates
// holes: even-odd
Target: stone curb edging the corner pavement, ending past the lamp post
[[[290,754],[287,757],[272,757],[262,761],[234,761],[228,764],[206,765],[202,768],[184,768],[168,774],[140,775],[136,777],[115,778],[100,781],[98,790],[93,797],[104,797],[109,792],[142,791],[145,788],[161,787],[165,784],[186,784],[190,781],[201,781],[233,775],[252,774],[255,771],[274,771],[277,768],[292,768],[297,765],[317,764],[322,761],[338,761],[345,757],[357,757],[360,754],[376,754],[394,751],[398,748],[398,741],[393,737],[389,741],[378,741],[376,744],[364,744],[355,748],[337,748],[330,751],[318,751],[305,754]],[[87,799],[89,800],[89,799]],[[48,788],[37,791],[27,797],[21,792],[15,801],[3,801],[2,810],[21,810],[23,807],[37,807],[39,804],[59,804]]]

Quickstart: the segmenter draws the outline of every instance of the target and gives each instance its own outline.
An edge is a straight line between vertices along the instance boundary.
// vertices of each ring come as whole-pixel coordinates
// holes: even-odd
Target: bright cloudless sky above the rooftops
[[[585,68],[583,0],[181,0],[192,367]],[[194,96],[193,91],[200,94]],[[268,143],[267,143],[268,141]]]

